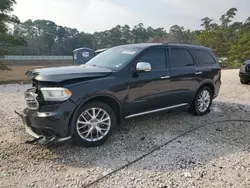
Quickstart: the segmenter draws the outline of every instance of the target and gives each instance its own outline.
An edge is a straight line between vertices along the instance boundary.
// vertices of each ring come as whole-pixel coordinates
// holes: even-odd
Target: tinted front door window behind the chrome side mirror
[[[137,62],[148,62],[152,70],[166,69],[166,58],[164,49],[151,49],[146,51]]]

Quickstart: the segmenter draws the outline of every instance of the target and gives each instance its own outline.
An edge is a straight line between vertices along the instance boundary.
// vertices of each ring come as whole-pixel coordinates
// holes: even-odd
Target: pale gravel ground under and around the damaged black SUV
[[[84,187],[173,138],[90,187],[250,187],[250,123],[213,123],[250,120],[250,85],[240,84],[238,70],[222,75],[210,114],[176,111],[126,120],[105,145],[88,149],[24,144],[29,137],[13,110],[25,107],[29,85],[0,86],[0,187]]]

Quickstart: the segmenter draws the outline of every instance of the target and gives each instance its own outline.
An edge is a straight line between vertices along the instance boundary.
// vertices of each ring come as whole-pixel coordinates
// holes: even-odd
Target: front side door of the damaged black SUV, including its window
[[[134,65],[138,62],[148,62],[152,70],[131,76],[127,115],[164,108],[168,105],[170,71],[166,54],[164,48],[149,49],[134,62]]]

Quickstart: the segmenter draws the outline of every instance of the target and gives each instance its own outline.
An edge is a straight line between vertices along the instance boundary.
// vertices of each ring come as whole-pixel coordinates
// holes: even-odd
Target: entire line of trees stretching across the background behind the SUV
[[[6,30],[6,23],[19,22],[9,14],[14,3],[15,0],[1,0],[0,10],[1,7],[5,9],[2,11],[4,21],[1,21],[0,15],[0,30]],[[72,55],[74,49],[84,46],[100,49],[143,42],[195,43],[212,48],[217,57],[226,58],[221,62],[223,67],[238,67],[243,61],[250,59],[250,17],[245,22],[233,22],[237,11],[236,8],[229,9],[220,17],[219,23],[205,17],[201,20],[203,29],[196,31],[173,25],[167,32],[164,28],[145,27],[143,23],[139,23],[133,28],[117,25],[110,30],[89,34],[49,20],[27,20],[15,24],[14,38],[4,32],[0,35],[0,41],[4,39],[2,44],[11,46],[11,49],[2,49],[2,52],[6,54],[11,50],[12,54],[20,55]],[[27,45],[14,48],[26,44],[22,38],[27,41]]]

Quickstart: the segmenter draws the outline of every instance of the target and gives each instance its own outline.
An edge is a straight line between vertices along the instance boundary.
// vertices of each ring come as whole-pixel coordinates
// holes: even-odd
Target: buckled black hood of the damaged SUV
[[[25,74],[43,82],[63,82],[79,78],[100,78],[109,76],[112,70],[90,65],[49,67],[27,71]]]

